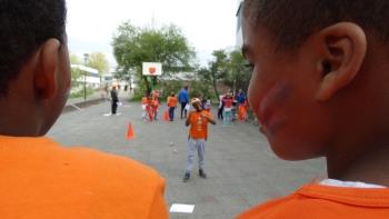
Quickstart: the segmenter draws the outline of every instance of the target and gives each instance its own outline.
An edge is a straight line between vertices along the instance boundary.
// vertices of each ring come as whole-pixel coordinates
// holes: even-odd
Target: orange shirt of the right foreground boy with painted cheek
[[[307,185],[295,193],[258,206],[237,219],[383,219],[389,218],[389,189]]]

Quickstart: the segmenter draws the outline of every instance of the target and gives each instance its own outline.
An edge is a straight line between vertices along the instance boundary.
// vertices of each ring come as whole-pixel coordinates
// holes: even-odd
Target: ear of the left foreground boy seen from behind
[[[57,39],[48,39],[39,51],[39,69],[34,73],[34,89],[42,99],[50,99],[57,92],[57,67],[61,43]]]

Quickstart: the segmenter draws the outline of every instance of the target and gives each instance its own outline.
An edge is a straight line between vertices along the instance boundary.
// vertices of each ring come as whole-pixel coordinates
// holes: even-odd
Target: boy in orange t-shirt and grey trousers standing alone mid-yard
[[[188,158],[186,173],[183,176],[183,181],[188,181],[190,178],[190,172],[193,169],[193,160],[196,150],[199,156],[199,176],[201,178],[207,178],[207,175],[203,170],[205,166],[205,152],[206,152],[206,142],[208,139],[208,122],[216,125],[216,121],[212,118],[212,115],[201,107],[201,100],[193,98],[191,100],[196,111],[191,111],[186,121],[186,126],[190,126],[189,137],[188,137]]]

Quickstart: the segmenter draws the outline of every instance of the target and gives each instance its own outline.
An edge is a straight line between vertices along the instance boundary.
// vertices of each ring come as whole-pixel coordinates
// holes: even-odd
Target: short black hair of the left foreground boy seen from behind
[[[0,97],[46,40],[63,43],[66,14],[66,0],[0,0]]]

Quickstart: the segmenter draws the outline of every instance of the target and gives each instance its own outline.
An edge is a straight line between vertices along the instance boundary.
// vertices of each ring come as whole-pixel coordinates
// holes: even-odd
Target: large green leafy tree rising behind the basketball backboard
[[[144,91],[151,88],[148,77],[142,76],[142,62],[161,62],[163,74],[170,76],[190,70],[196,56],[181,30],[174,26],[153,30],[124,22],[118,28],[112,46],[118,62],[117,77],[136,72]],[[157,79],[153,80],[156,83]]]

